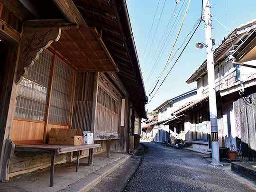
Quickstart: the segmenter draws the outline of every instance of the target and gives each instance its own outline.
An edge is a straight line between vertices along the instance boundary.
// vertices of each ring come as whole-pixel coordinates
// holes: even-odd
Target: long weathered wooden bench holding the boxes
[[[92,165],[93,149],[101,147],[101,144],[83,144],[78,146],[60,146],[60,145],[21,145],[15,146],[15,151],[26,151],[26,152],[46,152],[51,154],[51,171],[50,171],[50,187],[54,183],[54,160],[55,155],[78,151],[76,156],[76,172],[78,172],[79,166],[79,155],[81,150],[89,149],[88,164]],[[81,165],[81,164],[80,164]]]

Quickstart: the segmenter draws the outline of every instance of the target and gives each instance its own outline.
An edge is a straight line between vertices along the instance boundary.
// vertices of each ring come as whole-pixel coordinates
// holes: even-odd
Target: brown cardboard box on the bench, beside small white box
[[[49,133],[50,145],[81,145],[83,144],[81,129],[52,128]]]

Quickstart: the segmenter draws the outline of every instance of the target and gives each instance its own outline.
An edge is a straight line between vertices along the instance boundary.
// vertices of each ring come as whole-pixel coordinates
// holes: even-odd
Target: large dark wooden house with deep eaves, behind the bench
[[[88,156],[24,152],[52,128],[93,132],[94,153],[138,144],[147,98],[125,0],[0,0],[0,50],[1,181]]]

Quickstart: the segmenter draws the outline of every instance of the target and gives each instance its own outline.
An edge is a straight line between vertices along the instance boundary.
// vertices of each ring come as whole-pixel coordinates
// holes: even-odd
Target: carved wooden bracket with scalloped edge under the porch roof
[[[27,68],[38,59],[38,54],[58,41],[61,36],[61,27],[25,27],[20,42],[20,54],[16,83],[18,84],[27,72]]]

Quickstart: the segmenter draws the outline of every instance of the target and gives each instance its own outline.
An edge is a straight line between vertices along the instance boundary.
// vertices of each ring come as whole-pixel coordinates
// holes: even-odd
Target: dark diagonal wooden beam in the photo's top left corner
[[[19,0],[0,0],[0,2],[21,21],[33,17],[29,10],[27,10]]]

